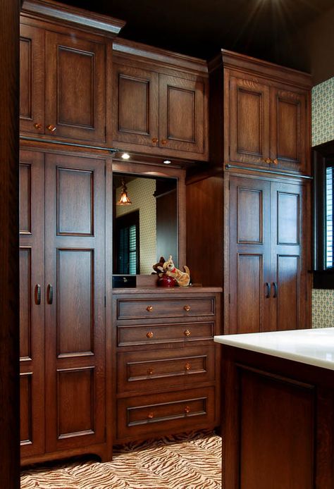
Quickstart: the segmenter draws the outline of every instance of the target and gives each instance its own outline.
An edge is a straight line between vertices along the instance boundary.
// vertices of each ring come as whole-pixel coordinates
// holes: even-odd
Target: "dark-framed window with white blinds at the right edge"
[[[334,289],[334,141],[314,149],[314,287]]]

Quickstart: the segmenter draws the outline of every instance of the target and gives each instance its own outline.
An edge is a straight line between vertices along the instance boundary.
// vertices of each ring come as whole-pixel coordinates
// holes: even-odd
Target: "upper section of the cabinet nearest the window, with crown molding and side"
[[[212,141],[214,159],[310,173],[309,75],[222,50],[211,63],[211,84],[211,125],[224,133],[221,144]]]

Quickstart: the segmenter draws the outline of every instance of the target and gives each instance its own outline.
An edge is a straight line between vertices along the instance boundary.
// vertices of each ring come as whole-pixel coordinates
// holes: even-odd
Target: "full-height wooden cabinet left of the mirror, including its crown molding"
[[[111,161],[106,151],[106,156],[97,154],[93,146],[111,145],[107,79],[111,78],[111,41],[123,24],[51,0],[23,2],[23,464],[82,453],[111,459],[105,210]],[[80,144],[85,149],[77,148]]]

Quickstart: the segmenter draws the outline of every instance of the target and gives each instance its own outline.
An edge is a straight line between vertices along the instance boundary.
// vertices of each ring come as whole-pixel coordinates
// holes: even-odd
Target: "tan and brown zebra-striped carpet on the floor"
[[[220,489],[221,438],[202,431],[116,447],[113,461],[26,469],[21,489]]]

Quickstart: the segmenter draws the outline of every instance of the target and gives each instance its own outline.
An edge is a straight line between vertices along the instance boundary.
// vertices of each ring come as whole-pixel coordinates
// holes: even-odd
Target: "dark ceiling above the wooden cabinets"
[[[225,48],[306,70],[308,66],[303,63],[307,54],[299,56],[295,52],[301,49],[295,45],[295,36],[334,6],[334,0],[63,0],[63,3],[126,20],[120,32],[120,37],[126,39],[206,59]],[[278,49],[282,42],[287,47],[284,60],[282,49]]]

